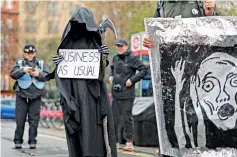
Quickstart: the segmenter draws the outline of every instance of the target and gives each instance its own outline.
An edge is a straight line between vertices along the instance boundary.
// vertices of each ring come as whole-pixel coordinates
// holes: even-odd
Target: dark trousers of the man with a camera
[[[126,140],[133,140],[134,124],[132,117],[132,107],[134,99],[113,99],[112,111],[116,141],[119,142],[123,137],[124,128]]]

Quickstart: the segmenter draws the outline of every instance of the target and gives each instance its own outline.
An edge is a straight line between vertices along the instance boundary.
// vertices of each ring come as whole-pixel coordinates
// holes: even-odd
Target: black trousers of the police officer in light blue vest
[[[29,122],[29,144],[36,144],[37,129],[40,120],[41,98],[26,99],[19,95],[16,96],[16,130],[14,142],[23,143],[23,135],[25,130],[26,116]]]

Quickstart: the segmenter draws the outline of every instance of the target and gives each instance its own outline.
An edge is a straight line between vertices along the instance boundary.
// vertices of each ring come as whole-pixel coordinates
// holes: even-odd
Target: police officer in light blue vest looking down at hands
[[[16,80],[16,149],[22,148],[23,134],[28,115],[30,149],[36,148],[37,128],[40,119],[41,96],[44,93],[44,78],[49,69],[43,60],[36,57],[34,45],[24,47],[23,57],[15,61],[10,76]]]

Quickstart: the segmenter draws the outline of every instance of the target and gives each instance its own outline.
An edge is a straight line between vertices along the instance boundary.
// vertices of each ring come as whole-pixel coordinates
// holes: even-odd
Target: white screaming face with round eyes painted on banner
[[[236,127],[237,59],[214,53],[206,58],[198,71],[197,96],[207,117],[223,130]]]

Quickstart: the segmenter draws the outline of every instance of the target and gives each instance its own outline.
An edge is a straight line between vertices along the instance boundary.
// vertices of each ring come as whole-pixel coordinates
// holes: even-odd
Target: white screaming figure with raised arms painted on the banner
[[[194,111],[198,118],[197,146],[206,146],[206,127],[204,124],[204,114],[215,124],[218,129],[227,131],[235,129],[237,124],[237,58],[216,52],[204,59],[196,75],[189,78],[190,97]],[[183,140],[184,131],[182,126],[182,116],[180,110],[180,92],[183,89],[185,78],[183,78],[185,61],[176,61],[171,67],[172,75],[175,78],[175,134],[177,136],[179,148],[184,148],[186,141]],[[185,130],[193,143],[192,128],[189,128],[186,116],[186,102],[184,102],[184,124]]]

